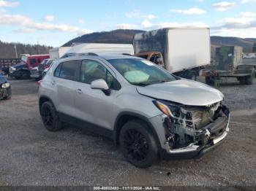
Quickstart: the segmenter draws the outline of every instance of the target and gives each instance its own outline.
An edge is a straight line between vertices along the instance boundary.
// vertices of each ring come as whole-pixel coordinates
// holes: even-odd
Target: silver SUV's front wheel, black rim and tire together
[[[124,157],[132,165],[148,168],[157,161],[157,143],[145,122],[127,122],[121,128],[119,141]]]

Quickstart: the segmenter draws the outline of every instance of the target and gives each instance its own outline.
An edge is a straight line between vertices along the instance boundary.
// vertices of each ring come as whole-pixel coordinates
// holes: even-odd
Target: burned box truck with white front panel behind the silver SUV
[[[196,80],[211,62],[209,28],[162,28],[135,34],[135,55],[179,77]]]

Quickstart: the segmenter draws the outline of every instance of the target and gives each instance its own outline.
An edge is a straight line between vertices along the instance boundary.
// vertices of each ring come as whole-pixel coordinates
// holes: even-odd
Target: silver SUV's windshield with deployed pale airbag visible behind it
[[[176,80],[172,74],[140,58],[113,59],[109,63],[133,85],[152,85]]]

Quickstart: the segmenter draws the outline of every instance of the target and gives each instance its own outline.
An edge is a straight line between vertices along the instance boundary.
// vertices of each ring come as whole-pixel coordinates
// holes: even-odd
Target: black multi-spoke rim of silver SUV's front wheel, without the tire
[[[124,133],[124,147],[127,155],[132,160],[142,161],[148,154],[148,142],[146,137],[137,130],[127,130]]]

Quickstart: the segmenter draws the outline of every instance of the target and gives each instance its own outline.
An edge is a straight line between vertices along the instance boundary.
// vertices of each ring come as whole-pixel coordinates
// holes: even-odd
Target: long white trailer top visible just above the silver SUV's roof
[[[107,53],[107,54],[134,54],[132,44],[98,44],[98,43],[83,43],[78,44],[70,48],[66,53]]]

